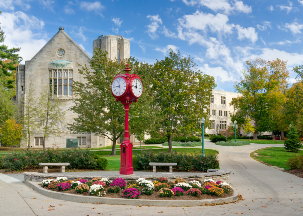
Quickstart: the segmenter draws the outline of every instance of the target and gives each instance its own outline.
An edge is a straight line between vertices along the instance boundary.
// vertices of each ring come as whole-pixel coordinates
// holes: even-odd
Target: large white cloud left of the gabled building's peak
[[[29,16],[24,12],[3,12],[0,15],[1,27],[5,31],[5,45],[8,48],[20,47],[18,52],[23,61],[30,60],[46,43],[46,35],[41,31],[44,22],[35,16]],[[40,33],[33,33],[39,30]]]

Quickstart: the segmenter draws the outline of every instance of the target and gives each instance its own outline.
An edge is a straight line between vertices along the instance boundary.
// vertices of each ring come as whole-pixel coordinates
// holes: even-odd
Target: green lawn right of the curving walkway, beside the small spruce
[[[255,153],[258,155],[255,155]],[[292,157],[293,155],[303,155],[303,151],[294,153],[286,151],[283,147],[269,147],[251,152],[250,154],[251,158],[255,160],[259,160],[272,166],[277,166],[284,169],[290,169],[285,164],[288,158]]]

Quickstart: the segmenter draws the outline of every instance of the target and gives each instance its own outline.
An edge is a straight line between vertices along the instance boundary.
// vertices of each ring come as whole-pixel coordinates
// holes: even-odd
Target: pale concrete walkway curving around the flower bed
[[[7,190],[15,191],[20,196],[18,206],[10,208],[11,214],[3,215],[27,215],[19,214],[19,202],[28,204],[35,214],[32,215],[203,215],[203,216],[230,216],[238,215],[303,215],[303,178],[298,178],[294,175],[282,172],[278,169],[268,167],[261,164],[252,158],[250,153],[260,148],[270,146],[269,144],[251,144],[246,146],[218,146],[208,140],[205,140],[205,148],[215,149],[220,152],[219,160],[220,167],[230,169],[231,184],[237,188],[239,194],[243,196],[244,201],[239,201],[234,204],[217,205],[217,206],[198,206],[198,207],[136,207],[123,205],[106,205],[106,204],[84,204],[68,201],[60,201],[53,198],[45,197],[36,193],[31,188],[26,188],[22,182],[9,183],[0,180],[0,189],[8,187]],[[195,147],[193,147],[195,148]],[[201,146],[196,147],[201,148]],[[0,197],[11,197],[10,194]],[[17,196],[14,193],[12,196]],[[24,200],[22,202],[21,198]],[[35,198],[35,199],[34,199]],[[13,198],[10,198],[14,200]],[[16,202],[15,202],[16,203]],[[59,204],[63,204],[60,206]],[[53,211],[47,211],[49,205],[54,205]],[[42,206],[44,208],[42,208]],[[264,207],[263,207],[264,206]],[[266,206],[266,207],[265,207]],[[2,209],[9,208],[8,203],[2,204],[0,198],[0,215]],[[25,210],[27,209],[24,207]],[[29,207],[28,207],[29,208]],[[163,213],[158,213],[163,211]],[[6,211],[8,212],[8,211]],[[97,214],[101,213],[101,214]],[[30,215],[30,214],[28,214]]]

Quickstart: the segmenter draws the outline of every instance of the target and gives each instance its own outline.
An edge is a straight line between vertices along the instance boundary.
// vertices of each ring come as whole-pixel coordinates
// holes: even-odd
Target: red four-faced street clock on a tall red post
[[[116,98],[116,101],[121,101],[124,105],[125,112],[125,125],[124,125],[124,139],[120,145],[120,174],[130,175],[134,174],[132,167],[132,143],[129,140],[128,132],[128,111],[129,105],[133,101],[137,102],[138,98],[142,95],[143,86],[141,78],[135,74],[129,74],[131,68],[124,68],[125,74],[118,74],[114,77],[112,82],[112,95]]]

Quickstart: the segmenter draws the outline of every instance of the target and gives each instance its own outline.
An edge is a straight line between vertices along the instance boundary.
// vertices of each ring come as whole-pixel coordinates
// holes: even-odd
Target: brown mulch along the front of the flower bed
[[[39,184],[41,186],[41,184]],[[42,186],[41,186],[42,187]],[[109,186],[105,186],[104,187],[104,191],[106,192],[106,196],[105,197],[109,197],[109,198],[123,198],[123,199],[127,199],[125,197],[123,197],[123,190],[121,190],[119,193],[117,194],[108,194],[107,190],[108,190]],[[140,191],[143,187],[140,187]],[[45,187],[45,189],[49,190],[48,187]],[[60,192],[60,193],[67,193],[67,194],[77,194],[77,195],[82,195],[82,196],[92,196],[89,194],[89,191],[84,192],[82,194],[79,194],[76,192],[75,189],[71,189],[69,191],[58,191],[58,189],[54,189],[54,190],[50,190],[50,191],[55,191],[55,192]],[[231,194],[223,194],[222,196],[218,197],[218,196],[214,196],[214,195],[209,195],[209,194],[201,194],[198,197],[195,196],[189,196],[185,194],[184,196],[173,196],[172,198],[169,197],[160,197],[160,195],[158,194],[158,192],[154,191],[154,193],[152,195],[141,195],[138,199],[144,199],[144,200],[204,200],[204,199],[218,199],[218,198],[226,198],[226,197],[230,197],[234,194],[234,191],[231,190]]]

